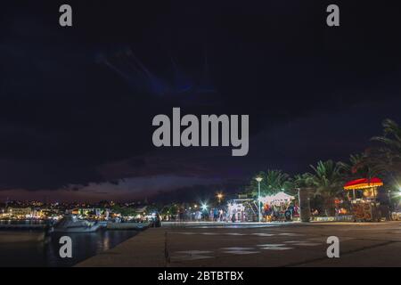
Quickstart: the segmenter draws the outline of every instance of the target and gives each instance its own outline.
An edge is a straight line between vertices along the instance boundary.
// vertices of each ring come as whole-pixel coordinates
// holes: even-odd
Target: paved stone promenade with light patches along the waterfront
[[[401,266],[401,223],[163,224],[78,266]]]

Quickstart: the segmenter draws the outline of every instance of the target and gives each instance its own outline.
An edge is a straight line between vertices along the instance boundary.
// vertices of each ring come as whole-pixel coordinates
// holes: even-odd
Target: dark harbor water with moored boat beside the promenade
[[[150,223],[115,223],[78,220],[0,221],[0,266],[70,267],[134,237]],[[61,258],[62,236],[71,240],[73,256]]]

